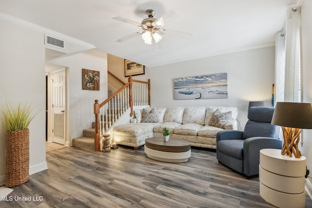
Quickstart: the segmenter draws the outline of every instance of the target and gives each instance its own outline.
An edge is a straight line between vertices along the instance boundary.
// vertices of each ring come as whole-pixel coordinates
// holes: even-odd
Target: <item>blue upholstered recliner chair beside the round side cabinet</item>
[[[261,149],[282,149],[280,127],[272,125],[274,108],[251,107],[244,131],[227,130],[216,134],[216,158],[248,179],[259,174]]]

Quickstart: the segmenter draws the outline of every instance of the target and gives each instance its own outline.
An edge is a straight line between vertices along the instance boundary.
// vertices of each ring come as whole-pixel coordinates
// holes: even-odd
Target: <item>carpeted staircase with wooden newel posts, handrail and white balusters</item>
[[[73,146],[100,151],[101,136],[110,133],[114,125],[129,123],[133,106],[150,106],[150,100],[150,80],[133,80],[129,76],[129,82],[105,101],[98,103],[95,100],[95,122],[92,122],[91,129],[83,130],[82,137],[72,139]]]

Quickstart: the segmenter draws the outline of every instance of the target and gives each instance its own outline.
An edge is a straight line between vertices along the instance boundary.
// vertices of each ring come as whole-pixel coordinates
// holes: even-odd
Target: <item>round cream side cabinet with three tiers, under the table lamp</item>
[[[260,150],[260,196],[279,208],[305,208],[306,158],[282,155],[281,150]]]

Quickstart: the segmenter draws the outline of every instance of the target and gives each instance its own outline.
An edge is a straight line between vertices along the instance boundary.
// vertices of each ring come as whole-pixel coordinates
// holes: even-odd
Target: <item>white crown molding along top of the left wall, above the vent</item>
[[[27,28],[32,29],[32,30],[36,30],[36,31],[44,33],[44,34],[48,34],[48,35],[51,35],[51,36],[54,36],[54,37],[57,37],[57,38],[60,38],[60,39],[63,39],[63,40],[67,40],[67,41],[76,43],[76,44],[81,45],[83,47],[87,47],[87,48],[90,48],[90,49],[96,48],[96,46],[93,45],[93,44],[90,44],[90,43],[78,40],[76,38],[72,38],[70,36],[66,36],[64,34],[58,33],[56,31],[53,31],[53,30],[50,30],[50,29],[47,29],[47,28],[44,28],[44,27],[41,27],[39,25],[33,24],[33,23],[25,21],[23,19],[19,19],[19,18],[10,16],[10,15],[4,14],[2,12],[0,12],[0,19],[3,19],[3,20],[6,20],[6,21],[9,21],[9,22],[21,25],[23,27],[27,27]]]

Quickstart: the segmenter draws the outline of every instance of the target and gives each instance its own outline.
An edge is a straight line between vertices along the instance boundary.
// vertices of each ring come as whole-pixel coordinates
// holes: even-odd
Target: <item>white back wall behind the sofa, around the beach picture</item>
[[[265,101],[272,107],[274,47],[237,52],[148,69],[153,107],[234,106],[243,129],[249,101]],[[228,73],[228,98],[175,100],[174,79],[187,76]]]

